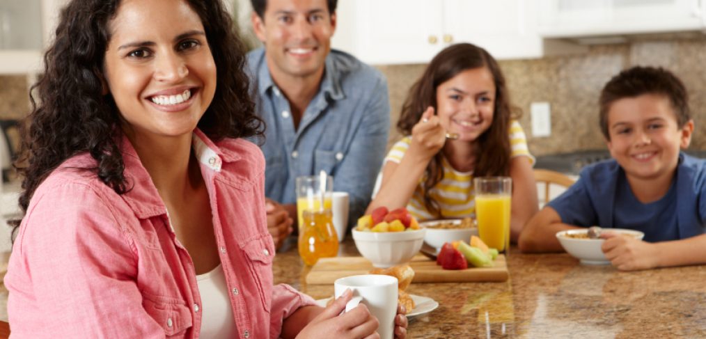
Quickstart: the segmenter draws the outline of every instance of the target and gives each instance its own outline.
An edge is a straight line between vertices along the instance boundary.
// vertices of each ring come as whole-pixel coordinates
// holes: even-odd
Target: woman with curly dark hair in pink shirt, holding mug
[[[273,287],[265,162],[243,139],[263,124],[220,0],[73,0],[44,61],[4,280],[13,337],[374,333],[366,307],[337,316],[350,292],[323,309]]]

